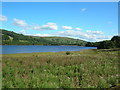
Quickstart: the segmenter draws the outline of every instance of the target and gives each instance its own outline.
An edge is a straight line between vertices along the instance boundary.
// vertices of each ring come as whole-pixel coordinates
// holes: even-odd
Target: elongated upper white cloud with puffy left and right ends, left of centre
[[[24,20],[20,19],[13,19],[13,25],[21,27],[23,29],[30,29],[30,30],[57,30],[58,26],[56,23],[49,22],[45,25],[29,25]]]

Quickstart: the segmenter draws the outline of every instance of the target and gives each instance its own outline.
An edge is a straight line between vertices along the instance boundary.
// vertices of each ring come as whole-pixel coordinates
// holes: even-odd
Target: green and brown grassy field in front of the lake
[[[119,83],[120,51],[6,54],[3,88],[109,88]]]

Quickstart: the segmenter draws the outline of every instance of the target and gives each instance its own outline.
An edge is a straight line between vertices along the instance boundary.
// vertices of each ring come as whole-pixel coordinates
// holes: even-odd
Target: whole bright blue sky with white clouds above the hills
[[[31,36],[60,36],[85,41],[118,34],[117,2],[3,2],[3,29]]]

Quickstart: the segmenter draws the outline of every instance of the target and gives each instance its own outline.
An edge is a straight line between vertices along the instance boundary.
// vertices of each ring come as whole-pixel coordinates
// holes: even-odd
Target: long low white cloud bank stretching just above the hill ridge
[[[76,38],[81,39],[85,41],[103,41],[103,40],[110,40],[112,36],[106,36],[101,34],[91,34],[89,32],[81,32],[79,30],[66,30],[66,31],[59,31],[51,34],[27,34],[25,30],[20,31],[21,34],[28,35],[28,36],[39,36],[39,37],[49,37],[49,36],[60,36],[60,37],[70,37],[70,38]]]

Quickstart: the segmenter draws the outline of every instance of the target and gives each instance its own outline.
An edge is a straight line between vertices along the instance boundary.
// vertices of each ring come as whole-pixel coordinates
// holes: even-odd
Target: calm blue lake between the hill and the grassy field
[[[41,45],[3,45],[2,46],[2,54],[33,53],[33,52],[79,51],[79,50],[83,50],[83,49],[93,49],[93,48],[96,48],[96,47],[41,46]]]

